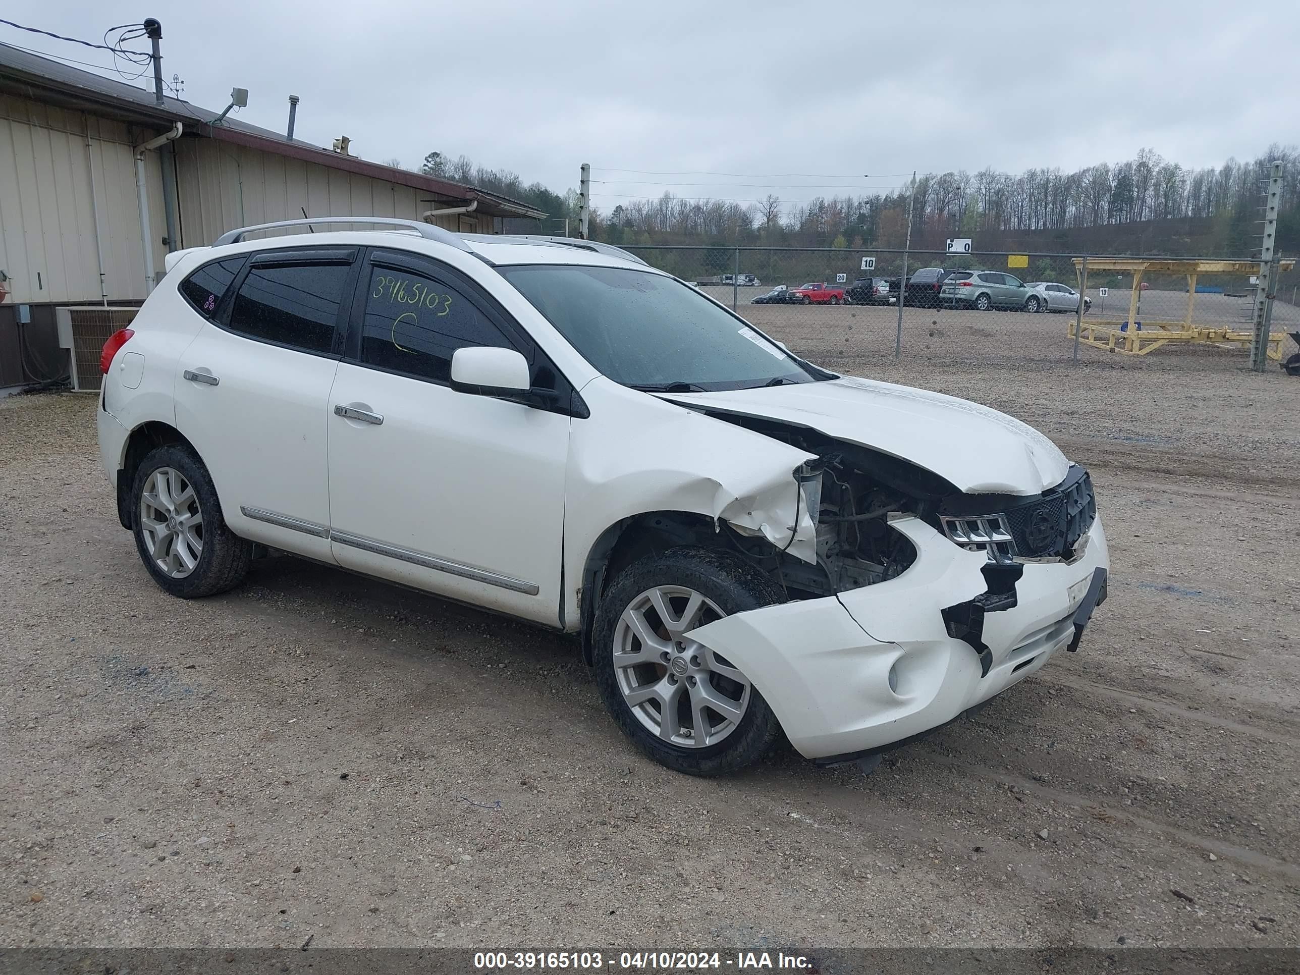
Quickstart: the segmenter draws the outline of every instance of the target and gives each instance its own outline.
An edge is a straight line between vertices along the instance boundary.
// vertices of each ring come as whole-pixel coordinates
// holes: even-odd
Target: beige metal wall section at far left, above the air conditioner
[[[157,153],[148,153],[146,182],[161,274],[166,220]],[[0,95],[0,268],[9,276],[9,303],[100,300],[96,207],[109,299],[140,300],[144,250],[127,127]]]

